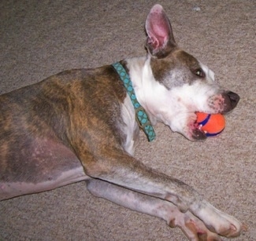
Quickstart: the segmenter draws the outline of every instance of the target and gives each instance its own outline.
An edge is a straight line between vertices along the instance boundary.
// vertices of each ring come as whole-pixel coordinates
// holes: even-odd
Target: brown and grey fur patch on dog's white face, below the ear
[[[154,79],[164,84],[168,89],[180,86],[184,82],[191,83],[196,79],[193,74],[202,68],[200,62],[182,49],[176,49],[163,59],[150,61]]]

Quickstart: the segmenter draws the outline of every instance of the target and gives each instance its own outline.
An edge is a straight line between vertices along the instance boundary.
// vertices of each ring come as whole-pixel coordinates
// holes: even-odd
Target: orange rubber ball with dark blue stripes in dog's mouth
[[[206,137],[217,136],[224,130],[225,119],[224,115],[221,114],[206,114],[202,112],[196,112],[197,123],[201,126],[201,130],[206,133]]]

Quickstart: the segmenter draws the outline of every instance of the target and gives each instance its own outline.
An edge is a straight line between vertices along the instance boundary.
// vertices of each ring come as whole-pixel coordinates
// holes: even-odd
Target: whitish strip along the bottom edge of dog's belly
[[[80,165],[72,170],[67,170],[62,173],[56,179],[50,181],[41,181],[39,183],[29,183],[25,181],[17,182],[0,182],[0,200],[10,199],[18,195],[25,195],[35,192],[44,192],[54,188],[64,186],[66,184],[72,184],[77,181],[83,181],[88,179],[83,172],[83,166]]]

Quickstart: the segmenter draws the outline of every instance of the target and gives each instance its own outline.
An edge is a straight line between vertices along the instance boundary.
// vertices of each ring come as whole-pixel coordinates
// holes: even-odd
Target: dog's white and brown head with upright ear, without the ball
[[[146,31],[143,106],[153,122],[164,122],[191,141],[205,139],[195,124],[195,111],[228,113],[236,107],[239,96],[218,86],[213,71],[176,45],[161,5],[150,10]]]

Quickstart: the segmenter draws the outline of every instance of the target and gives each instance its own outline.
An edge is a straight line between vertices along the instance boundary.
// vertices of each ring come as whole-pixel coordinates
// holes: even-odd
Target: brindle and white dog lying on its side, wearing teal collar
[[[0,199],[86,181],[93,195],[180,227],[191,240],[236,237],[245,229],[184,182],[133,157],[139,129],[162,122],[191,141],[206,139],[195,111],[228,113],[239,95],[180,49],[154,5],[147,55],[50,76],[0,97]]]

